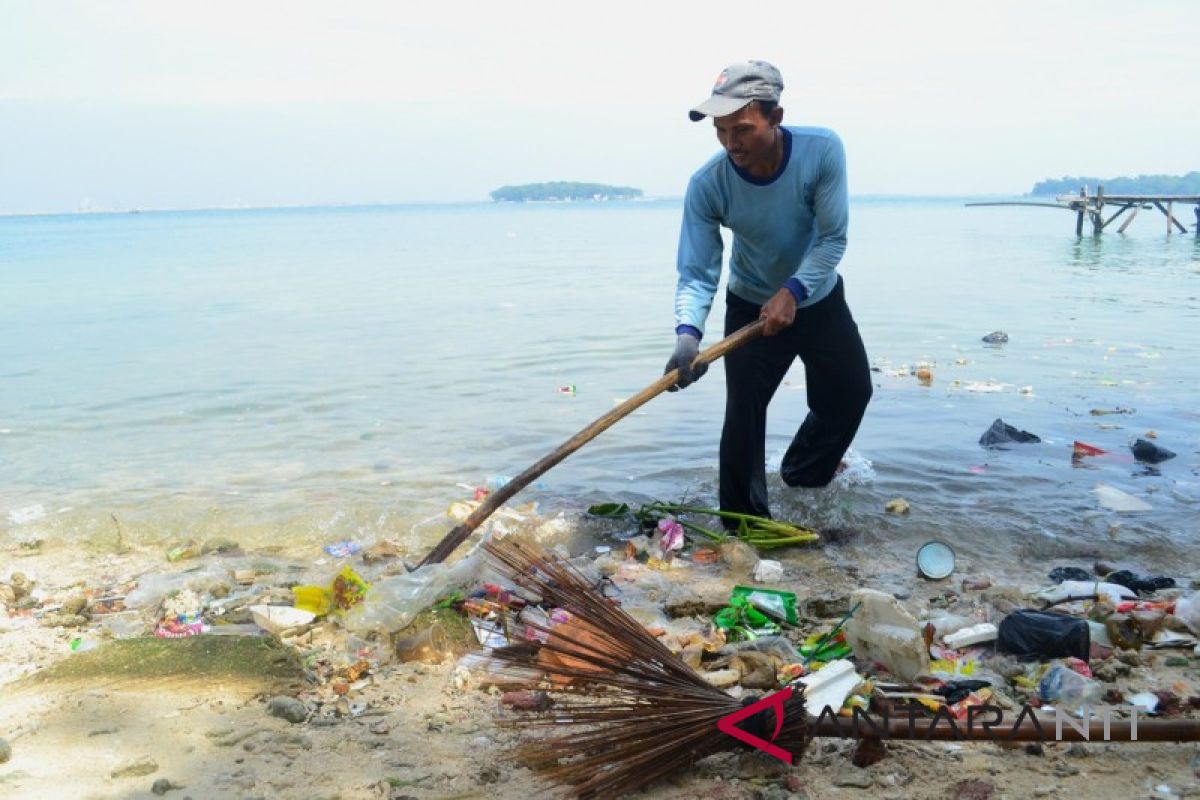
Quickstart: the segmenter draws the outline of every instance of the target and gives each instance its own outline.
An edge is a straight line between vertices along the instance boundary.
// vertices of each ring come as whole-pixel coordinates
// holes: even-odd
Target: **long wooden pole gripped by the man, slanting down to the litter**
[[[742,347],[746,342],[762,336],[764,325],[766,323],[760,319],[757,321],[750,323],[749,325],[746,325],[740,330],[734,331],[730,336],[726,336],[724,339],[721,339],[713,347],[708,348],[707,350],[697,355],[696,360],[691,362],[692,366],[695,367],[702,363],[712,363],[713,361],[720,359],[722,355]],[[612,409],[611,411],[608,411],[607,414],[594,421],[592,425],[583,428],[574,437],[564,441],[562,445],[559,445],[558,450],[550,453],[548,456],[545,456],[533,467],[529,467],[523,473],[510,480],[508,483],[496,489],[494,492],[490,493],[487,495],[487,499],[485,499],[479,505],[479,507],[475,509],[470,513],[470,516],[462,522],[462,524],[451,529],[450,533],[448,533],[442,539],[442,541],[438,542],[437,547],[430,551],[430,554],[425,557],[425,560],[422,560],[419,566],[425,566],[426,564],[439,564],[446,560],[446,558],[449,558],[449,555],[454,553],[455,548],[457,548],[460,545],[467,541],[467,537],[470,536],[472,531],[479,528],[485,519],[491,517],[497,509],[508,503],[514,494],[516,494],[524,487],[533,483],[551,467],[554,467],[556,464],[558,464],[558,462],[563,461],[572,452],[575,452],[576,450],[578,450],[580,447],[582,447],[583,445],[592,441],[598,435],[611,428],[613,425],[616,425],[618,420],[628,416],[631,411],[635,411],[636,409],[641,408],[654,397],[658,397],[666,390],[674,386],[677,380],[679,380],[678,369],[672,369],[671,372],[664,374],[653,384],[650,384],[638,393],[634,395],[624,403]]]

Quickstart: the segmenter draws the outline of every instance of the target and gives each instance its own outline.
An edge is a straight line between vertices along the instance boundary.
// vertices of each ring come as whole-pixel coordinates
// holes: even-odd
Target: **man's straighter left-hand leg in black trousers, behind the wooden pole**
[[[727,294],[725,335],[758,319],[761,306]],[[757,338],[725,356],[725,427],[721,429],[721,510],[769,517],[767,404],[796,359],[782,336]]]

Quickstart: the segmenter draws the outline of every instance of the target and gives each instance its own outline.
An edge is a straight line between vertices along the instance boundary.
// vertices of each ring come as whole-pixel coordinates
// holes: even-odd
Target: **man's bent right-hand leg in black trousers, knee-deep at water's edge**
[[[797,311],[809,415],[784,455],[788,486],[826,486],[838,471],[871,399],[871,369],[841,278],[828,297]]]

